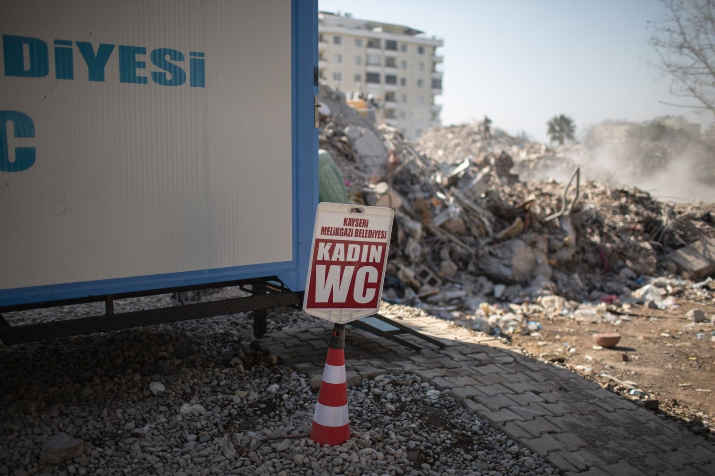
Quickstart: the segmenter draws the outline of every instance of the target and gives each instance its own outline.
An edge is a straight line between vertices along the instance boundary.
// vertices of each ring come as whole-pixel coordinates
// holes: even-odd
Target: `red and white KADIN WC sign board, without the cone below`
[[[394,212],[320,203],[303,310],[347,323],[380,310]]]

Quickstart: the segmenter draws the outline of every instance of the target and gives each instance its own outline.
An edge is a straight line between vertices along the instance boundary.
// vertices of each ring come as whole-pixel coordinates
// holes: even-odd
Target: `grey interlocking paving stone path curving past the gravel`
[[[449,389],[470,413],[566,476],[715,476],[715,444],[677,422],[488,336],[430,317],[400,323],[438,338],[445,348],[400,335],[424,346],[415,352],[347,326],[348,385],[382,373],[418,375]],[[265,335],[261,344],[317,388],[331,329],[327,321],[286,329]]]

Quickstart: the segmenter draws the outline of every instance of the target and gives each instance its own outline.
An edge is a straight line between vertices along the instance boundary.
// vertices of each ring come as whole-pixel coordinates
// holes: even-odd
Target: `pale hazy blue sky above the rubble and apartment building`
[[[567,114],[577,136],[606,119],[644,121],[682,114],[711,118],[669,93],[647,21],[658,0],[318,0],[318,8],[403,24],[443,39],[444,125],[487,114],[493,126],[546,141],[546,122]]]

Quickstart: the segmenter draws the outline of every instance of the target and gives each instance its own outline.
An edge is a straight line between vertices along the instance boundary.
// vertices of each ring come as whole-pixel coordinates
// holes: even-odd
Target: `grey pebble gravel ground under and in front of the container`
[[[159,295],[116,308],[171,304]],[[312,320],[274,313],[269,332]],[[351,440],[320,447],[308,437],[317,392],[251,332],[231,315],[0,349],[0,475],[558,474],[415,375],[349,388]]]

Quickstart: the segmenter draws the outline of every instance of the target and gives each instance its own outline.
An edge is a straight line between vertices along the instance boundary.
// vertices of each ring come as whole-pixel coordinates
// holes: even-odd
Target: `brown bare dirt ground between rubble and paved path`
[[[699,435],[715,434],[715,303],[676,300],[669,310],[613,306],[621,323],[578,322],[566,315],[533,315],[542,328],[513,335],[512,344],[542,360],[563,362],[603,388],[683,420]],[[699,308],[709,318],[685,317]],[[594,347],[594,333],[618,333],[613,348]],[[657,409],[657,410],[656,410]]]

